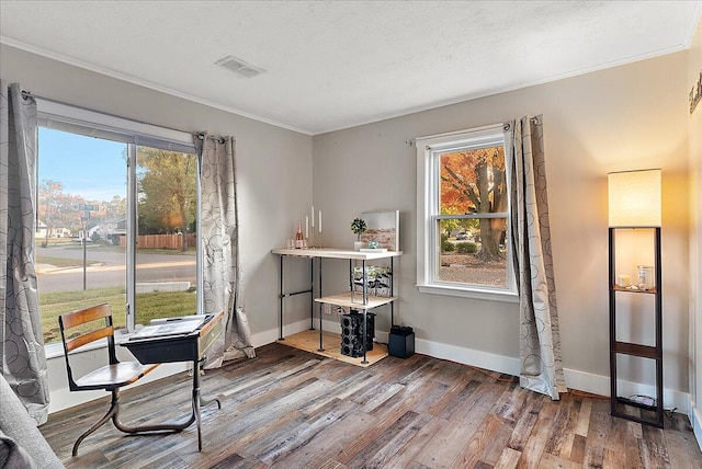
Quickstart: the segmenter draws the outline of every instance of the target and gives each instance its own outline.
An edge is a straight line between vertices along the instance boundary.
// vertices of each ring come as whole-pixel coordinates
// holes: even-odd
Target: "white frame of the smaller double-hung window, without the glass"
[[[441,155],[487,146],[506,146],[502,124],[466,130],[419,137],[417,148],[417,287],[420,293],[518,302],[517,281],[512,262],[509,202],[508,211],[495,214],[441,215],[440,160]],[[508,201],[511,193],[509,152],[505,151]],[[441,255],[441,219],[500,218],[507,220],[507,286],[492,287],[478,284],[458,284],[438,279],[438,260]]]

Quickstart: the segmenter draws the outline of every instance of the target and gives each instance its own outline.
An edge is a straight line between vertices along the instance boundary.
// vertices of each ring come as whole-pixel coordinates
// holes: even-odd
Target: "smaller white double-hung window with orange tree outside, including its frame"
[[[513,300],[502,126],[417,139],[423,293]]]

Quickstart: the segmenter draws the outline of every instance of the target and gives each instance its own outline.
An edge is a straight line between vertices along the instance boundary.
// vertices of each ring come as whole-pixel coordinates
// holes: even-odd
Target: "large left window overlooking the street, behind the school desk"
[[[127,331],[199,311],[199,171],[189,140],[39,102],[35,261],[45,343],[60,341],[59,314],[100,302]]]

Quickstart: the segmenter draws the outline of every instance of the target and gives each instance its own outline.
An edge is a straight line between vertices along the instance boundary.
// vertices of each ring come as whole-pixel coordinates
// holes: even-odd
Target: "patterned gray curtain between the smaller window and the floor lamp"
[[[567,392],[561,358],[551,252],[543,121],[505,124],[511,178],[511,239],[520,310],[520,385],[558,400]]]

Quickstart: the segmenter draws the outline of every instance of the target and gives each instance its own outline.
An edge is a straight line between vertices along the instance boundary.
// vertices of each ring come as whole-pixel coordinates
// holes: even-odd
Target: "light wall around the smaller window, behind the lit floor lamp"
[[[684,397],[688,352],[687,53],[314,137],[314,201],[326,242],[351,245],[363,210],[400,209],[399,321],[478,365],[513,366],[516,305],[420,294],[416,286],[416,151],[406,140],[544,115],[551,229],[568,385],[609,393],[607,173],[663,169],[665,387]],[[343,275],[336,287],[343,287]],[[329,282],[327,285],[331,285]],[[384,319],[380,319],[382,323]],[[644,335],[653,334],[653,324]],[[498,359],[499,361],[499,359]],[[643,380],[641,375],[626,377]],[[669,393],[670,393],[669,392]],[[684,400],[684,399],[683,399]],[[676,401],[677,402],[677,401]],[[677,403],[676,403],[677,404]]]

